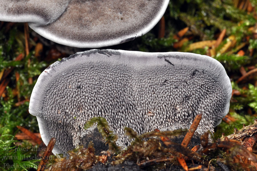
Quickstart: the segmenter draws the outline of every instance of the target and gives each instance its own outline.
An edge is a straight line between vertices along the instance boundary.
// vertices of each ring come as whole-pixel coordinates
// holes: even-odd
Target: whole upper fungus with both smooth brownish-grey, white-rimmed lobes
[[[128,42],[158,23],[169,0],[0,0],[0,21],[29,22],[59,44],[99,48]]]

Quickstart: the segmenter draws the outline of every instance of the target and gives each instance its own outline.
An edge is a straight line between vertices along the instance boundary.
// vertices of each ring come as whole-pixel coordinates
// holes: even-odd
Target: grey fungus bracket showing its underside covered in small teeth
[[[51,64],[33,89],[29,112],[37,116],[45,144],[57,139],[54,153],[87,142],[93,129],[83,125],[104,117],[129,142],[123,127],[138,133],[189,128],[202,113],[198,133],[228,113],[232,87],[215,59],[193,53],[125,50],[78,52]]]

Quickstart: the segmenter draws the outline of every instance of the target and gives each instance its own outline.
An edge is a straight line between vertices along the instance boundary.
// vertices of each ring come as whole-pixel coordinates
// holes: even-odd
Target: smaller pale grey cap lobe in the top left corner
[[[0,21],[46,25],[65,11],[70,0],[1,0]]]

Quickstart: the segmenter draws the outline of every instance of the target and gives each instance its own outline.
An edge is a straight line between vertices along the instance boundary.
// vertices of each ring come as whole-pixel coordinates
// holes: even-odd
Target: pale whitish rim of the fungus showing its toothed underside
[[[90,54],[90,53],[95,53],[97,51],[99,51],[99,50],[92,49],[92,50],[85,51],[85,52]],[[198,60],[211,62],[211,63],[213,63],[213,65],[216,65],[216,67],[220,69],[220,75],[219,76],[220,76],[220,78],[222,78],[222,80],[224,80],[224,87],[225,87],[225,89],[227,89],[227,99],[226,99],[226,105],[224,107],[223,117],[229,111],[230,98],[231,98],[231,95],[232,95],[232,86],[231,86],[230,79],[229,79],[228,75],[226,74],[226,71],[225,71],[224,67],[222,66],[222,64],[220,62],[218,62],[216,59],[211,58],[210,56],[188,53],[188,52],[138,52],[138,51],[111,50],[111,49],[107,49],[107,50],[104,50],[104,51],[105,52],[106,51],[118,52],[120,54],[126,54],[128,56],[131,55],[131,56],[137,56],[137,57],[140,57],[142,55],[144,55],[144,56],[148,55],[148,56],[152,56],[152,57],[164,56],[164,55],[190,56],[192,58],[197,58]],[[48,135],[49,133],[47,132],[47,123],[45,123],[46,120],[41,117],[42,111],[40,109],[42,109],[42,104],[40,104],[40,101],[37,100],[38,98],[43,97],[43,94],[45,94],[45,91],[42,88],[42,84],[45,84],[45,81],[49,80],[48,77],[49,77],[50,73],[55,72],[55,71],[53,71],[53,68],[58,67],[59,64],[65,62],[65,61],[69,61],[70,59],[76,58],[77,55],[83,54],[85,52],[77,52],[74,55],[71,55],[67,58],[63,58],[61,61],[56,61],[55,63],[51,64],[47,69],[45,69],[41,73],[41,75],[39,76],[39,78],[38,78],[38,80],[35,84],[35,87],[32,91],[31,98],[30,98],[29,113],[31,115],[34,115],[34,116],[37,117],[37,120],[38,120],[38,123],[39,123],[39,130],[40,130],[40,133],[41,133],[41,138],[42,138],[42,140],[45,144],[49,143],[51,137]],[[203,65],[204,65],[204,63],[203,63]],[[51,74],[50,74],[50,76],[51,76]],[[220,121],[218,121],[216,123],[216,125],[218,125],[219,123],[220,123]],[[57,149],[57,148],[54,148],[53,153],[54,154],[61,153],[61,150]]]

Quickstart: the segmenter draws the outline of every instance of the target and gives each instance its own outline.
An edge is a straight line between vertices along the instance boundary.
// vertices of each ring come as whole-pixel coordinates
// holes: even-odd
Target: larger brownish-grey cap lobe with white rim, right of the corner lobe
[[[79,48],[99,48],[133,40],[156,25],[169,0],[71,0],[53,23],[29,26],[43,37]]]

